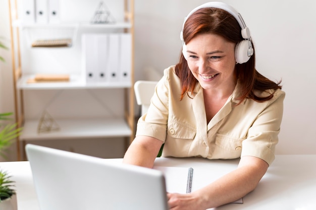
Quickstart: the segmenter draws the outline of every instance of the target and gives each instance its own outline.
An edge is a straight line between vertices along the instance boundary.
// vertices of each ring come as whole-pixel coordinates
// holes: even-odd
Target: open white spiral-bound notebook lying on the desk
[[[212,176],[207,175],[207,170],[185,168],[185,167],[153,167],[163,172],[166,180],[166,189],[170,193],[191,193],[213,181]],[[243,203],[240,198],[232,203]]]

